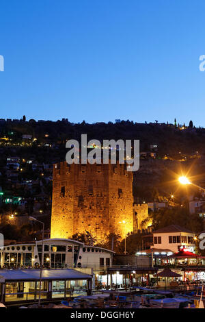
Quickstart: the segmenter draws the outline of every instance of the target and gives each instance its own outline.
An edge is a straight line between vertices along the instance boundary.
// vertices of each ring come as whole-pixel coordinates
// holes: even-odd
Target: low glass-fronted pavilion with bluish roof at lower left
[[[92,275],[74,269],[1,269],[0,299],[8,305],[58,301],[92,294]]]

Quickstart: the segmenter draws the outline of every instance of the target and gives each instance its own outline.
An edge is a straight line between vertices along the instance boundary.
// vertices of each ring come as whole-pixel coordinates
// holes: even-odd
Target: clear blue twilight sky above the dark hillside
[[[205,127],[204,0],[1,0],[0,118]]]

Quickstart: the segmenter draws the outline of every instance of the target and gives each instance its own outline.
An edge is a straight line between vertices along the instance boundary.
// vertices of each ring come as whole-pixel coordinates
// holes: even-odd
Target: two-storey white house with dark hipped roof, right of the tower
[[[180,248],[195,250],[195,234],[179,225],[169,225],[153,232],[153,249],[169,249],[174,253]]]

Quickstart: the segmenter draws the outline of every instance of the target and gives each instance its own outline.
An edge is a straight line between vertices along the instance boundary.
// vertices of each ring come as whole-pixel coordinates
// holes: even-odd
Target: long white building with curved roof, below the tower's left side
[[[111,266],[113,251],[87,246],[71,239],[44,239],[36,242],[5,246],[1,251],[1,267],[36,267],[44,258],[44,267],[92,269],[96,273]]]

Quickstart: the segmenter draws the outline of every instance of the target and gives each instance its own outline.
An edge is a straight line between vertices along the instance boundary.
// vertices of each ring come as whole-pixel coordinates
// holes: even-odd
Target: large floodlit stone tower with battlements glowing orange
[[[133,232],[133,173],[126,164],[53,166],[51,238],[87,231],[98,241]]]

